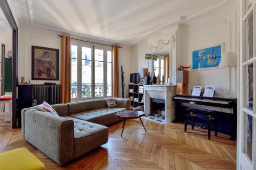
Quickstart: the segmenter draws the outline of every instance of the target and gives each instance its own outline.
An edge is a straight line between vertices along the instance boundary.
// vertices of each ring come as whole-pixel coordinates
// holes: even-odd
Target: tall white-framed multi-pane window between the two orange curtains
[[[112,48],[72,42],[71,97],[80,101],[112,96]]]

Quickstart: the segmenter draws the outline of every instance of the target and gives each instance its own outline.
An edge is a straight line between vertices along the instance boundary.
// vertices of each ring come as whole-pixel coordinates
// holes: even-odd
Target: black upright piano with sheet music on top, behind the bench
[[[230,140],[237,138],[237,99],[176,95],[173,97],[173,101],[176,103],[176,119],[174,122],[184,121],[183,110],[186,107],[182,106],[182,103],[233,109],[233,111],[230,113],[220,111],[217,112],[218,132],[230,135]],[[196,124],[203,125],[202,123]]]

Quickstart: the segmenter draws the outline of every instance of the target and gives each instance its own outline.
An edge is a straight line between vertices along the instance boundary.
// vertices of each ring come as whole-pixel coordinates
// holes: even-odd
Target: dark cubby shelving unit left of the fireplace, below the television
[[[143,92],[139,92],[140,87],[143,87],[143,84],[129,84],[129,98],[131,99],[132,107],[144,106],[144,102],[141,101],[144,90]]]

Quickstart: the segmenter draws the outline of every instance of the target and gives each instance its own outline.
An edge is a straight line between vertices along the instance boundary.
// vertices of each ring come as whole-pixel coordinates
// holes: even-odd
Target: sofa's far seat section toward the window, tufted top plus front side
[[[88,122],[108,126],[122,120],[121,118],[116,117],[115,114],[125,109],[126,108],[120,108],[120,107],[114,107],[114,108],[106,107],[106,108],[71,114],[70,116],[81,119],[81,120],[86,120]]]

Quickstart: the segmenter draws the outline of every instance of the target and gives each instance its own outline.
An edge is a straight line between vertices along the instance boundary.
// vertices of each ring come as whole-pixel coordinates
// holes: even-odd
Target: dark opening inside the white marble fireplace
[[[165,120],[165,100],[151,98],[150,115],[156,118],[157,121],[162,122]],[[162,120],[162,121],[161,121]]]

